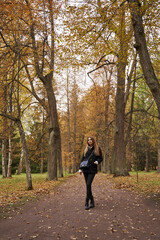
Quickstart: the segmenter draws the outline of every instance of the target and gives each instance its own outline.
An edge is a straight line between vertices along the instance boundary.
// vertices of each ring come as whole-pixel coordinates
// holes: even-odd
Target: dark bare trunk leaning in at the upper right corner
[[[139,0],[128,0],[132,16],[132,24],[135,36],[135,48],[138,51],[140,63],[148,87],[150,88],[156,102],[158,113],[160,115],[160,84],[155,75],[151,58],[147,49],[146,37],[144,33],[141,4]]]

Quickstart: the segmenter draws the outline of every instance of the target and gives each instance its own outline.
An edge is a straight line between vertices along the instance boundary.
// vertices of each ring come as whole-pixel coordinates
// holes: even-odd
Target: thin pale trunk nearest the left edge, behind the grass
[[[7,177],[7,140],[2,139],[2,177]]]

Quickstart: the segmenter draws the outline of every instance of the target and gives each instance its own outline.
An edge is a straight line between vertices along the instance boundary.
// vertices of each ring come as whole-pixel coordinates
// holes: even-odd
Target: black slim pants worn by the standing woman
[[[95,173],[83,173],[86,181],[86,201],[93,199],[92,195],[92,182],[95,176]]]

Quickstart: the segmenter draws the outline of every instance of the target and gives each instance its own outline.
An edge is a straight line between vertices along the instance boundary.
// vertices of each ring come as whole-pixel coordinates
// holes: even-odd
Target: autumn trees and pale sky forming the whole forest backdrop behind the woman
[[[2,176],[26,171],[32,189],[31,173],[75,173],[88,136],[104,173],[160,172],[159,1],[2,0],[0,12]]]

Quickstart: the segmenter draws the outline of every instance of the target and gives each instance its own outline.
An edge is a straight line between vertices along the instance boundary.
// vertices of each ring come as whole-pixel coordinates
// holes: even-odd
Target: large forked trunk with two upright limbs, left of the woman
[[[30,13],[30,32],[31,32],[31,38],[32,38],[32,50],[33,50],[33,56],[34,56],[34,67],[35,71],[37,73],[38,78],[43,82],[46,92],[47,92],[47,98],[48,98],[48,105],[49,105],[49,157],[48,157],[48,180],[57,179],[57,163],[59,164],[59,175],[63,176],[63,167],[62,167],[62,156],[61,156],[61,136],[60,136],[60,129],[59,129],[59,123],[58,123],[58,113],[57,113],[57,107],[56,107],[56,98],[52,86],[52,80],[53,80],[53,73],[54,73],[54,12],[53,12],[53,1],[48,0],[48,19],[50,26],[48,31],[50,32],[50,54],[48,57],[48,65],[50,72],[47,75],[44,75],[43,68],[40,64],[41,56],[39,54],[37,43],[36,43],[36,33],[35,33],[35,21],[34,21],[34,14],[32,14],[32,3],[31,1],[25,0],[26,5],[29,9]],[[47,29],[47,25],[45,26]],[[47,38],[47,35],[46,35]],[[46,62],[46,60],[43,58],[41,59],[41,62]]]

